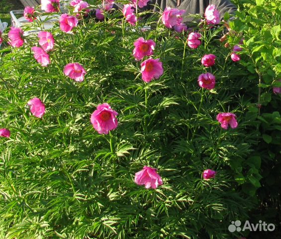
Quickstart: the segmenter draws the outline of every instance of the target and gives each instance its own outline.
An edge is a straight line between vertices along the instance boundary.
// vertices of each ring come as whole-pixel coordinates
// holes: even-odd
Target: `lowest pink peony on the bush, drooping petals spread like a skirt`
[[[156,189],[163,184],[162,178],[156,170],[156,168],[144,166],[143,170],[135,173],[135,183],[137,185],[145,185],[145,188]]]

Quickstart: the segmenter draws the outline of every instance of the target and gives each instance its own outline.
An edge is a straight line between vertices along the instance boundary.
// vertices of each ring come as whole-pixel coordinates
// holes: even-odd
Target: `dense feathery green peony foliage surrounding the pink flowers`
[[[266,59],[256,60],[264,48],[255,50],[253,18],[231,23],[244,31],[240,64],[219,41],[223,25],[194,28],[202,44],[190,49],[188,33],[164,27],[159,17],[133,27],[120,11],[105,21],[90,14],[74,34],[56,23],[47,67],[33,58],[36,35],[23,47],[0,50],[0,126],[11,131],[0,138],[1,237],[228,239],[242,236],[228,231],[231,221],[249,219],[269,194],[277,209],[281,117],[272,87],[281,78],[278,28],[269,30],[277,34],[273,44],[264,43],[277,53],[265,65]],[[144,25],[152,30],[142,31]],[[163,63],[164,74],[150,83],[132,56],[140,36],[155,40],[153,58]],[[239,40],[236,33],[228,37],[231,47]],[[210,53],[216,63],[205,68],[200,60]],[[71,62],[87,70],[84,82],[63,74]],[[216,77],[211,91],[197,83],[205,72]],[[42,119],[27,107],[34,97],[46,106]],[[90,121],[102,103],[119,114],[118,127],[107,135]],[[221,112],[235,113],[238,127],[222,129]],[[144,165],[163,179],[156,190],[134,183]],[[202,179],[207,168],[217,171],[215,178]]]

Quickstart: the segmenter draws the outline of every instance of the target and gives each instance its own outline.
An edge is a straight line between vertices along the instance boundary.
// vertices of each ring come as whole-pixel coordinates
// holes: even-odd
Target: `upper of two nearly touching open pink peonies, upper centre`
[[[134,42],[133,56],[136,60],[141,60],[145,56],[151,56],[155,47],[155,42],[153,40],[145,40],[143,37],[139,37]]]

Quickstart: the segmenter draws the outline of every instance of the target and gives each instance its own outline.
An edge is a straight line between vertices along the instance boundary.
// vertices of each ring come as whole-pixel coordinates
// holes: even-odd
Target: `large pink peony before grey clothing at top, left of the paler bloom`
[[[167,6],[162,14],[162,22],[168,28],[180,25],[183,22],[183,14],[185,12],[186,10],[179,10],[177,8]]]

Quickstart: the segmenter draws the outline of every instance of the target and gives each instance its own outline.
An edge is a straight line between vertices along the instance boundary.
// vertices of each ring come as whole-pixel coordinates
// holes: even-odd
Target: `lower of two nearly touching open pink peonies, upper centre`
[[[145,82],[151,82],[152,79],[158,79],[163,74],[162,62],[159,59],[148,59],[141,63],[142,79]]]

